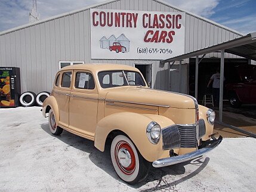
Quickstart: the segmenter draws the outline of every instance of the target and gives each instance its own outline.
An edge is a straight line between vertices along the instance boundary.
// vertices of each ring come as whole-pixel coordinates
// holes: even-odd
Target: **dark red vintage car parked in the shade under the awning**
[[[230,105],[240,107],[242,103],[256,104],[256,66],[246,64],[235,68],[236,82],[226,85]]]

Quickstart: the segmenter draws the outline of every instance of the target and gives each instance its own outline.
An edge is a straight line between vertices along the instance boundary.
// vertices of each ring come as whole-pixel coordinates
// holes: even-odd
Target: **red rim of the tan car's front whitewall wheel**
[[[127,166],[122,165],[121,160],[124,160],[125,157],[119,156],[120,150],[127,151],[127,157],[126,157],[127,159],[125,160],[126,162],[129,162]],[[134,151],[132,150],[131,145],[129,145],[126,141],[119,141],[118,144],[116,144],[115,159],[119,169],[125,175],[131,175],[135,171],[136,161],[135,161]]]

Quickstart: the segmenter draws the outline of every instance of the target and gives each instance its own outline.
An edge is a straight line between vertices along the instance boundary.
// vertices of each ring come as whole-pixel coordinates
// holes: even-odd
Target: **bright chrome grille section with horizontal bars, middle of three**
[[[180,132],[180,147],[196,147],[196,126],[178,126]]]

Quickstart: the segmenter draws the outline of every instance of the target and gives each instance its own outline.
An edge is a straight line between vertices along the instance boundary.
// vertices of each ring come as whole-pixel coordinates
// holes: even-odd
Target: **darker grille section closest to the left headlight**
[[[163,150],[180,147],[180,133],[177,125],[162,129]]]

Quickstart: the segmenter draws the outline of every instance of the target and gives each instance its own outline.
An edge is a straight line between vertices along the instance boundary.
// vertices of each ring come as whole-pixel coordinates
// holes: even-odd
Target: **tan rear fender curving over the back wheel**
[[[53,95],[51,95],[50,97],[47,97],[44,100],[44,103],[42,105],[42,113],[44,117],[45,117],[45,113],[48,113],[48,107],[50,107],[53,110],[55,121],[58,125],[58,121],[60,120],[60,114],[58,113],[57,101],[55,100],[55,97],[53,97]]]

